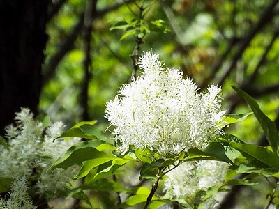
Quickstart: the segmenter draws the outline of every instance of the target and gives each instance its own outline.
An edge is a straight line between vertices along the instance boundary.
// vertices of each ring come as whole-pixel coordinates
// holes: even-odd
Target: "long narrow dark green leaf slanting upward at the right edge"
[[[254,112],[257,121],[262,126],[262,130],[264,130],[264,134],[266,135],[267,141],[269,141],[269,145],[271,146],[274,153],[277,153],[278,150],[278,141],[279,136],[276,128],[276,124],[271,121],[269,117],[267,117],[262,110],[259,108],[259,104],[257,104],[256,100],[252,98],[248,93],[242,91],[235,86],[232,86],[234,91],[236,91],[241,97],[246,100],[252,111]]]

